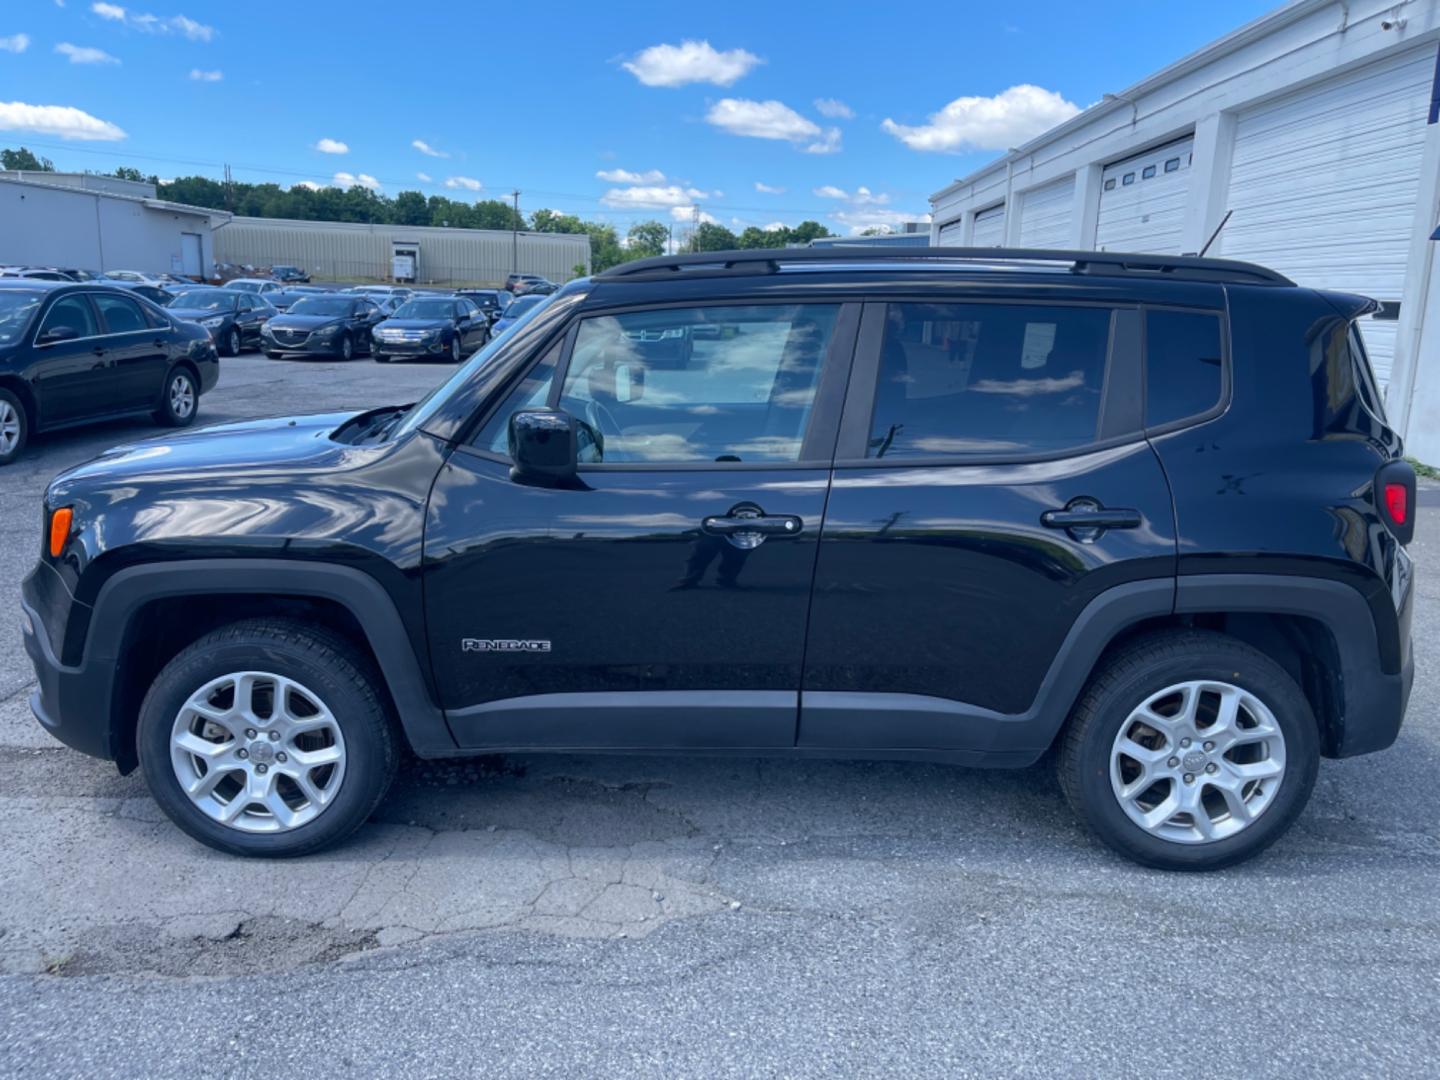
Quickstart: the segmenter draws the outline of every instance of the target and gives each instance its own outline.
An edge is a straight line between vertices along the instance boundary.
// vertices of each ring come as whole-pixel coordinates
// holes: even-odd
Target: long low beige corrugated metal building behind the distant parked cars
[[[576,265],[586,272],[590,265],[589,238],[570,233],[520,233],[517,268],[508,232],[274,217],[236,217],[217,228],[215,258],[236,265],[301,266],[317,281],[389,281],[395,240],[419,246],[422,284],[500,284],[511,269],[569,281]]]

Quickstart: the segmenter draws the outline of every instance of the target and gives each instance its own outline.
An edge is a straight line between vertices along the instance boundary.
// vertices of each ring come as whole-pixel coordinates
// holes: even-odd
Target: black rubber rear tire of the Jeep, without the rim
[[[1146,665],[1119,681],[1083,734],[1076,780],[1081,814],[1102,840],[1139,863],[1161,868],[1208,870],[1259,854],[1295,822],[1309,802],[1319,770],[1315,716],[1295,681],[1276,664],[1248,649],[1221,658],[1217,651],[1195,661],[1182,657]],[[1178,844],[1153,837],[1125,814],[1110,786],[1110,750],[1130,711],[1165,687],[1191,680],[1215,680],[1259,697],[1274,714],[1284,736],[1286,772],[1280,791],[1250,827],[1211,844]]]

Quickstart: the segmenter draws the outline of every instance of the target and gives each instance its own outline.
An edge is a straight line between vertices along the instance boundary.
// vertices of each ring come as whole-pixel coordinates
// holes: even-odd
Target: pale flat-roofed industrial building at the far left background
[[[157,199],[154,184],[0,171],[0,264],[199,278],[215,255],[212,225],[228,217]]]

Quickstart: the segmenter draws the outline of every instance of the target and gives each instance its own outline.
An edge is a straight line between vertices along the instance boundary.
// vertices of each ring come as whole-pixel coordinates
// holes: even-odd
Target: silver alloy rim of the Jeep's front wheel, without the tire
[[[334,802],[346,740],[312,690],[266,671],[236,671],[210,680],[180,708],[170,765],[212,821],[240,832],[288,832]]]

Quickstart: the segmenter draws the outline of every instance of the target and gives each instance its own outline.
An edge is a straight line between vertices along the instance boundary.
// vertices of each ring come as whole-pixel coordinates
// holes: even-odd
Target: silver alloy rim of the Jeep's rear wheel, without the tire
[[[1211,844],[1250,828],[1284,782],[1274,713],[1230,683],[1178,683],[1148,697],[1110,749],[1126,816],[1161,840]]]

